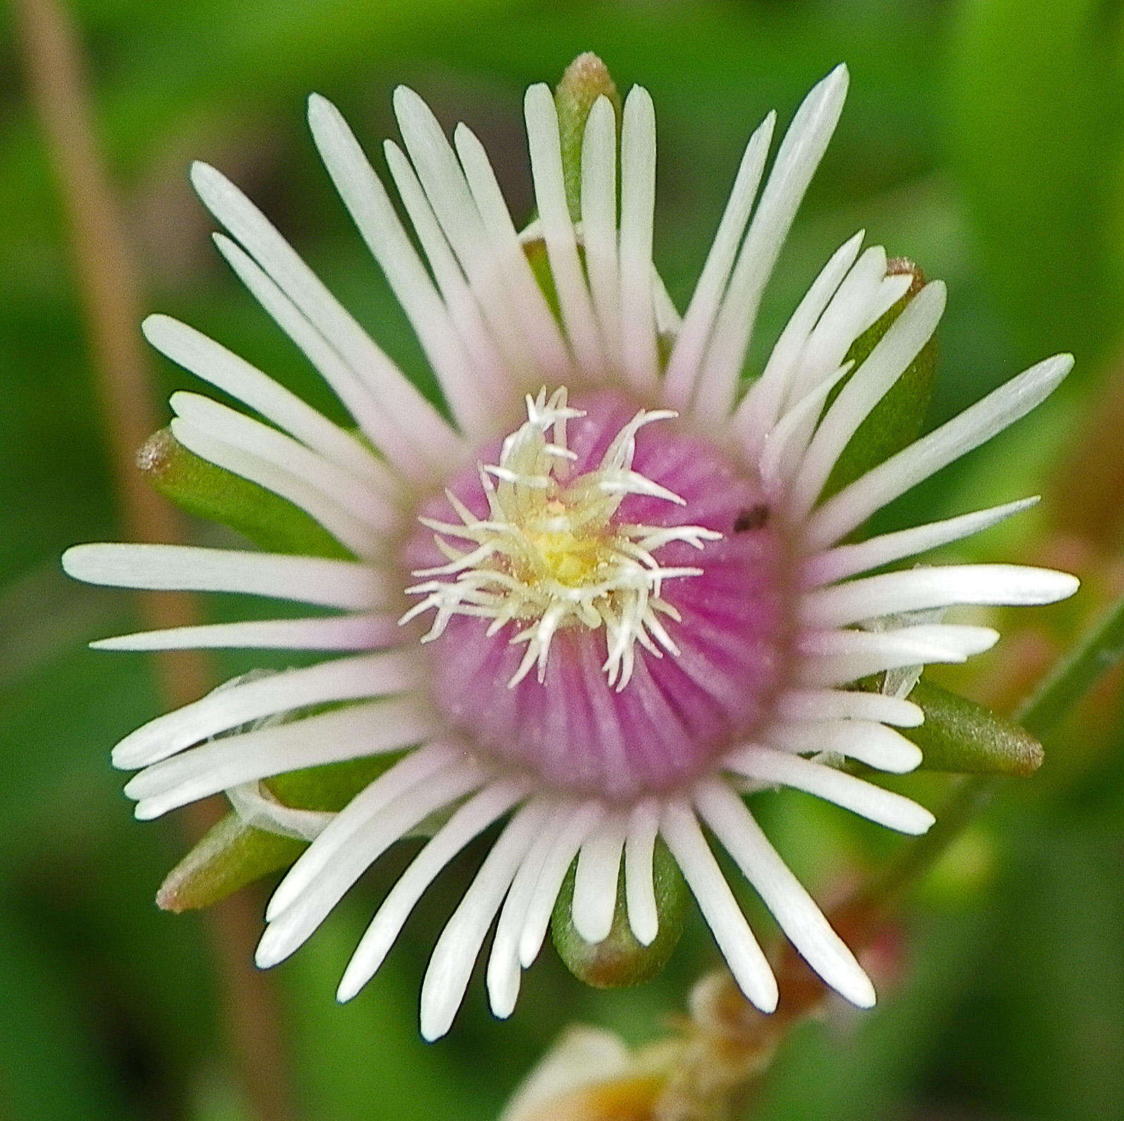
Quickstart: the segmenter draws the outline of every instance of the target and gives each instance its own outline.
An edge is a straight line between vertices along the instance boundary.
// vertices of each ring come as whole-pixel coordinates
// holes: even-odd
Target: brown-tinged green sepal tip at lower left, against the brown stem
[[[167,874],[156,904],[164,911],[209,907],[246,884],[288,868],[306,847],[306,841],[266,833],[228,813]]]

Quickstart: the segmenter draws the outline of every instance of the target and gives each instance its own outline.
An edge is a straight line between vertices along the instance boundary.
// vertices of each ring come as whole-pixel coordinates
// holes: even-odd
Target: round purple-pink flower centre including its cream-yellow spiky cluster
[[[527,422],[422,508],[402,563],[429,690],[479,751],[552,788],[674,788],[769,718],[789,549],[755,472],[620,394]]]

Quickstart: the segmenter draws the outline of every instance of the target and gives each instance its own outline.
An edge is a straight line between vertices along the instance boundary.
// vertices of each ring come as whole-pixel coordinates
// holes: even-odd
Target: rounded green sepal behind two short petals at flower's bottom
[[[624,876],[617,877],[617,904],[608,937],[595,944],[587,942],[574,930],[572,910],[577,868],[578,861],[574,860],[562,883],[551,917],[551,937],[559,957],[579,980],[595,988],[623,988],[651,980],[661,973],[679,943],[689,898],[682,874],[667,846],[660,840],[655,842],[653,874],[660,931],[651,946],[641,946],[628,925]]]

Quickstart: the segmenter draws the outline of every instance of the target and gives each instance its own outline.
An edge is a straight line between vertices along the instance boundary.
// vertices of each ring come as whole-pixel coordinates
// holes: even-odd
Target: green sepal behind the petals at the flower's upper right
[[[898,316],[905,310],[906,305],[925,286],[922,271],[913,261],[905,257],[892,257],[887,263],[887,273],[894,275],[910,273],[914,278],[913,283],[905,296],[872,327],[868,327],[847,351],[847,361],[854,362],[855,370],[862,365],[870,352],[890,329]],[[888,460],[917,439],[925,422],[930,397],[933,394],[935,373],[936,343],[934,338],[930,338],[905,373],[898,378],[889,392],[859,425],[858,432],[843,449],[843,454],[836,460],[835,467],[827,478],[822,495],[823,499],[842,490],[847,483],[865,474],[871,468],[878,467],[879,463]],[[828,398],[828,405],[847,380],[844,379],[841,385],[835,387],[831,398]]]

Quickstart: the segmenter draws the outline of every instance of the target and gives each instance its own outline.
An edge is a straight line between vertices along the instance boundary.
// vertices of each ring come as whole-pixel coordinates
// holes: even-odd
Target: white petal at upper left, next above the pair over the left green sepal
[[[235,247],[230,242],[226,244]],[[151,315],[140,329],[173,362],[248,405],[356,479],[373,485],[380,494],[397,489],[387,465],[362,441],[194,327],[166,315]]]

